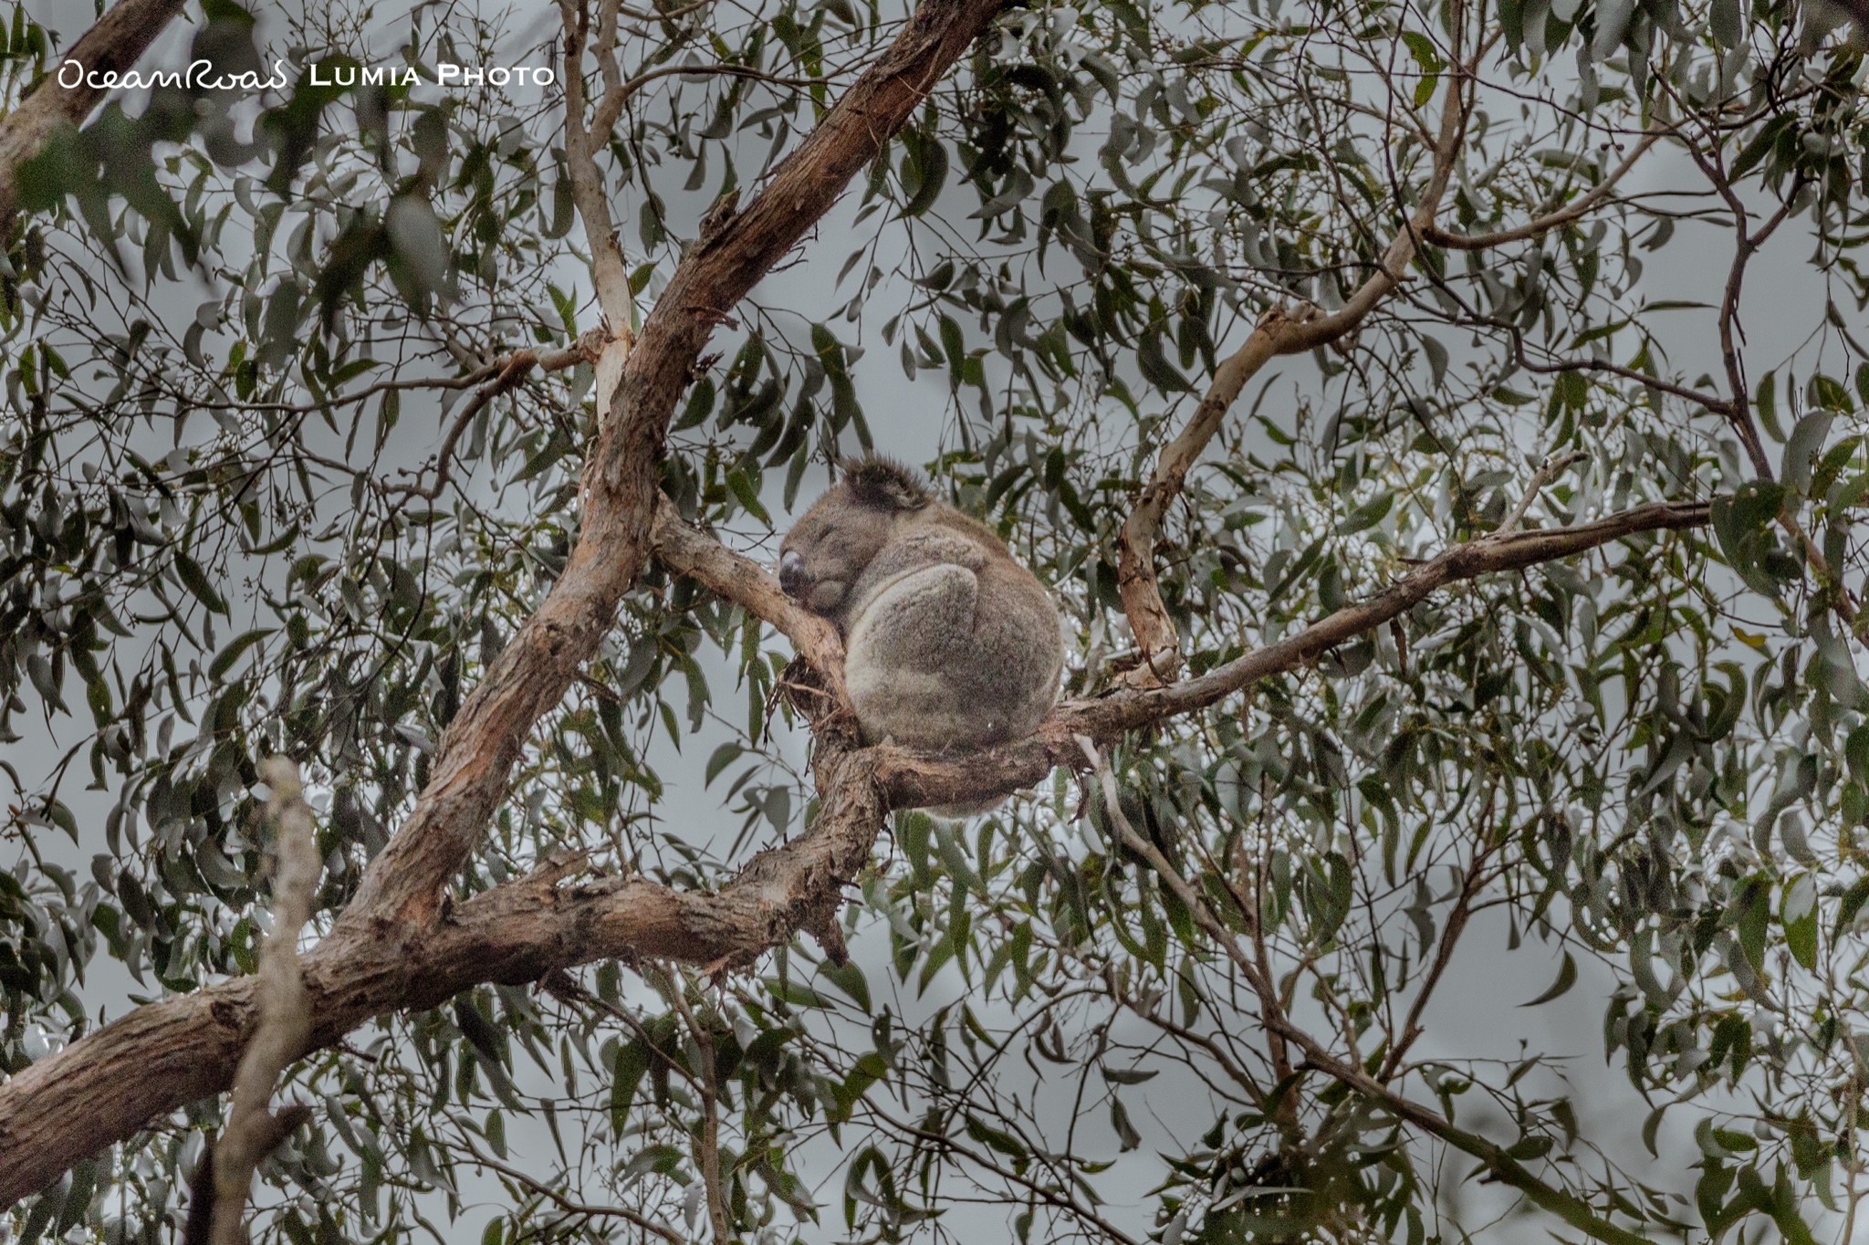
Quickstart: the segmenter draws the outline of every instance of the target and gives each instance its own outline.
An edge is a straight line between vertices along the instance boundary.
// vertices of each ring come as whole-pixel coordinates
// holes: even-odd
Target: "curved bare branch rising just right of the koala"
[[[1239,391],[1260,368],[1280,355],[1299,355],[1318,346],[1329,346],[1355,333],[1363,320],[1400,284],[1407,265],[1420,247],[1422,230],[1434,224],[1441,196],[1454,174],[1460,138],[1465,133],[1471,107],[1471,84],[1463,75],[1450,75],[1447,99],[1441,107],[1441,133],[1434,148],[1434,168],[1420,191],[1415,213],[1383,250],[1376,273],[1357,288],[1344,307],[1331,316],[1286,314],[1273,308],[1260,318],[1252,336],[1215,368],[1213,383],[1194,408],[1181,434],[1155,460],[1155,475],[1136,497],[1136,505],[1116,540],[1116,587],[1123,598],[1123,613],[1136,637],[1142,664],[1133,671],[1133,682],[1149,686],[1166,682],[1181,669],[1179,637],[1168,606],[1163,602],[1161,580],[1155,574],[1155,533],[1163,516],[1181,494],[1189,469],[1207,441],[1220,430],[1226,411]]]

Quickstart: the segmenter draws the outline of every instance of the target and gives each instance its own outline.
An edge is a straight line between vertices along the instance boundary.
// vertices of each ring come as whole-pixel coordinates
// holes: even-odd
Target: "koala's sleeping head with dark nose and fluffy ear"
[[[899,462],[845,462],[843,479],[785,533],[779,587],[806,609],[835,617],[897,520],[927,505],[927,488]]]

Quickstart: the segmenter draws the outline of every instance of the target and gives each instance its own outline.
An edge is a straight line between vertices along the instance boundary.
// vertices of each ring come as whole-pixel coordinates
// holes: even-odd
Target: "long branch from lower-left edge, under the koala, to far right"
[[[1650,505],[1577,527],[1462,544],[1370,600],[1200,679],[1062,705],[1034,738],[968,757],[890,746],[852,751],[849,738],[824,731],[813,759],[820,811],[811,830],[757,854],[718,892],[678,892],[647,879],[563,884],[572,862],[475,895],[432,925],[372,922],[363,935],[325,938],[303,959],[316,1017],[307,1049],[327,1047],[385,1011],[432,1008],[469,985],[520,985],[594,959],[673,959],[720,970],[749,965],[798,931],[839,957],[843,886],[869,860],[890,808],[961,804],[1028,787],[1056,765],[1078,765],[1078,737],[1116,740],[1215,705],[1381,626],[1448,583],[1706,520],[1706,503]],[[705,540],[692,535],[692,542]],[[778,608],[783,593],[757,563],[693,546],[682,559],[736,604],[761,617],[766,609],[787,617],[789,602]],[[252,978],[235,978],[138,1008],[0,1086],[0,1153],[9,1157],[0,1166],[0,1206],[148,1120],[224,1090],[252,1023]]]

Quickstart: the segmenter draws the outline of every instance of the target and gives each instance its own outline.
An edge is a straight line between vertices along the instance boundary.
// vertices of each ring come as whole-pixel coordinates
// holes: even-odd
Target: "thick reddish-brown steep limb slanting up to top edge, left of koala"
[[[772,174],[746,211],[690,247],[643,322],[585,467],[585,514],[564,574],[501,651],[441,737],[409,823],[370,864],[335,937],[432,920],[506,794],[533,723],[564,695],[609,630],[650,550],[656,464],[675,402],[714,325],[830,209],[850,176],[985,30],[1000,0],[929,0]],[[566,69],[566,86],[578,75]],[[615,325],[613,325],[615,329]]]

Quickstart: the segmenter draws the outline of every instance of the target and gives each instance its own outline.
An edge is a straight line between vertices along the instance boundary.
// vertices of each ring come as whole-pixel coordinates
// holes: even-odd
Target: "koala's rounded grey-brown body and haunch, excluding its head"
[[[951,507],[899,520],[852,587],[849,617],[845,677],[871,740],[987,748],[1030,735],[1058,697],[1050,593]]]

